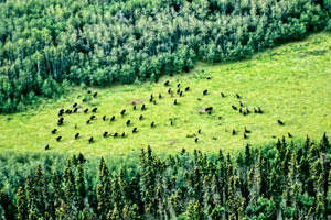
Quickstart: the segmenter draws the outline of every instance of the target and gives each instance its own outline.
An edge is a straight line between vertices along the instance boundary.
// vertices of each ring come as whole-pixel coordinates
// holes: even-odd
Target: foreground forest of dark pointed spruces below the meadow
[[[247,145],[235,156],[182,150],[162,158],[148,147],[139,165],[121,168],[100,158],[90,169],[79,154],[63,170],[38,165],[12,191],[10,178],[18,177],[2,178],[0,218],[327,220],[330,165],[325,134],[320,142],[307,136],[305,142]]]

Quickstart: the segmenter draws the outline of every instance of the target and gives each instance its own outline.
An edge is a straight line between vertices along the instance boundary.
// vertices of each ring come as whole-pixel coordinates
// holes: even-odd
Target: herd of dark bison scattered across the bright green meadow
[[[211,79],[211,77],[206,77],[206,79]],[[164,85],[166,87],[170,87],[171,80],[166,80],[166,81],[163,82],[163,85]],[[174,98],[174,99],[173,99],[173,105],[174,105],[174,106],[179,105],[179,103],[180,103],[180,101],[179,101],[180,97],[183,97],[183,96],[184,96],[184,92],[190,92],[190,91],[191,91],[191,87],[190,87],[190,86],[186,86],[185,88],[182,89],[181,84],[178,82],[178,84],[177,84],[177,92],[175,92],[175,94],[178,95],[178,98]],[[170,97],[174,97],[174,92],[172,91],[172,88],[168,88],[166,92],[168,92],[168,95],[169,95]],[[96,98],[97,98],[97,95],[98,95],[97,92],[92,92],[92,90],[88,90],[87,94],[88,94],[90,97],[93,97],[94,99],[96,99]],[[202,91],[202,96],[209,96],[209,95],[210,95],[209,89],[204,89],[204,90]],[[226,95],[224,91],[222,91],[220,95],[221,95],[221,96],[220,96],[221,98],[226,98],[227,96],[232,96],[232,95],[229,95],[229,94]],[[159,98],[159,101],[160,101],[162,98],[164,98],[164,97],[162,96],[161,92],[159,92],[159,95],[158,95],[157,97]],[[233,103],[233,105],[231,106],[231,108],[233,109],[233,111],[235,111],[235,112],[237,112],[237,113],[239,113],[239,114],[243,114],[243,116],[248,116],[248,114],[250,114],[250,113],[256,113],[256,114],[263,114],[263,113],[264,113],[264,110],[263,110],[261,107],[254,107],[254,108],[253,108],[253,111],[250,111],[249,108],[248,108],[248,106],[245,105],[242,95],[239,95],[239,94],[234,94],[233,97],[235,97],[235,99],[237,99],[237,103]],[[197,98],[197,100],[201,101],[202,98]],[[83,102],[84,102],[84,101],[86,101],[86,99],[83,99]],[[151,94],[151,95],[149,96],[149,101],[150,101],[151,103],[153,103],[153,105],[157,105],[157,103],[158,103],[158,102],[157,102],[157,98],[153,96],[153,94]],[[145,118],[143,114],[142,114],[142,111],[146,111],[146,110],[147,110],[147,105],[143,103],[143,101],[140,100],[140,99],[132,100],[130,103],[132,105],[132,111],[138,111],[138,105],[141,103],[141,107],[140,107],[141,114],[139,116],[138,119],[139,119],[139,121],[142,121],[143,118]],[[203,113],[212,114],[212,113],[213,113],[213,110],[214,110],[214,108],[213,108],[212,106],[209,106],[209,107],[205,107],[205,108],[203,108],[203,109],[199,109],[199,110],[197,110],[197,113],[199,113],[199,114],[203,114]],[[82,116],[87,114],[88,112],[92,112],[92,113],[93,113],[93,114],[89,116],[88,119],[86,120],[86,124],[90,124],[90,123],[93,123],[95,120],[97,120],[97,117],[96,117],[96,113],[98,112],[98,108],[97,108],[97,107],[92,108],[90,111],[89,111],[89,108],[83,108],[83,107],[79,106],[77,102],[75,102],[75,103],[72,105],[71,108],[67,108],[67,109],[62,108],[62,109],[58,110],[58,112],[57,112],[57,117],[58,117],[58,118],[57,118],[57,128],[54,128],[54,129],[51,131],[51,134],[52,134],[52,135],[55,135],[55,134],[58,132],[60,128],[64,125],[65,117],[67,118],[67,116],[70,116],[70,114],[75,114],[75,113],[78,114],[78,113],[82,113],[82,112],[83,112]],[[119,111],[120,118],[125,118],[127,112],[128,112],[127,109],[120,110],[120,111]],[[218,116],[217,119],[221,120],[222,117]],[[106,121],[108,121],[108,122],[114,122],[114,121],[116,120],[116,116],[109,116],[109,117],[107,117],[107,114],[104,114],[104,116],[102,117],[102,120],[105,121],[105,122],[106,122]],[[285,122],[281,121],[280,119],[277,120],[277,123],[278,123],[279,125],[285,125]],[[131,119],[127,119],[127,120],[126,120],[126,127],[130,127],[131,124],[132,124],[132,123],[131,123]],[[171,127],[174,125],[173,119],[170,119],[170,125],[171,125]],[[156,128],[156,127],[157,127],[157,122],[156,122],[156,121],[152,121],[152,122],[150,123],[150,128],[153,129],[153,128]],[[77,128],[78,128],[77,124],[75,124],[75,129],[77,129]],[[135,133],[137,133],[138,131],[139,131],[138,127],[135,127],[135,128],[132,128],[131,133],[135,134]],[[199,130],[197,130],[197,134],[201,134],[201,132],[202,132],[202,130],[199,129]],[[242,134],[243,134],[243,138],[244,138],[244,139],[248,139],[248,138],[249,138],[248,134],[249,134],[250,132],[252,132],[252,131],[248,130],[248,129],[245,127],[245,129],[244,129],[244,131],[243,131],[243,133],[242,133]],[[241,133],[241,132],[239,132],[239,131],[236,131],[235,129],[232,130],[232,135],[237,135],[238,133]],[[82,134],[81,134],[79,132],[77,132],[73,138],[74,138],[74,140],[79,140],[81,136],[82,136]],[[105,131],[105,132],[103,132],[103,133],[100,134],[100,136],[104,138],[104,139],[109,138],[109,136],[113,136],[114,139],[116,139],[116,138],[126,138],[127,134],[126,134],[126,132],[113,132],[113,133],[111,133],[111,132]],[[195,139],[194,139],[194,142],[195,142],[195,143],[199,142],[199,138],[197,138],[195,134],[193,134],[193,135],[186,135],[186,136],[188,136],[188,138],[195,138]],[[288,136],[291,138],[292,135],[291,135],[290,133],[288,133]],[[58,136],[55,138],[55,140],[56,140],[57,142],[61,142],[61,140],[63,140],[63,139],[62,139],[61,135],[58,135]],[[97,139],[95,139],[94,136],[87,136],[87,143],[93,143],[93,142],[95,142],[96,140],[97,140]],[[213,140],[217,140],[217,139],[216,139],[216,138],[213,138]],[[45,146],[45,150],[50,150],[50,144],[47,144],[47,145]]]

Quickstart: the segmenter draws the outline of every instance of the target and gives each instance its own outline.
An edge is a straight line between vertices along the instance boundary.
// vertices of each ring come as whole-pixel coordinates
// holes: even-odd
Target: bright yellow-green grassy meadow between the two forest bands
[[[87,90],[76,88],[74,91],[55,102],[39,108],[8,116],[0,116],[0,151],[44,152],[50,144],[51,152],[65,154],[82,152],[86,156],[115,155],[120,156],[131,152],[139,152],[148,144],[158,153],[173,153],[181,148],[204,152],[216,152],[220,148],[235,151],[246,143],[259,144],[269,142],[275,136],[288,135],[305,138],[307,134],[320,139],[323,132],[331,134],[331,35],[320,33],[309,36],[302,42],[289,43],[274,50],[256,54],[250,59],[227,64],[199,63],[188,74],[173,77],[162,77],[158,84],[143,82],[141,85],[114,86],[111,88],[95,89],[98,96],[88,102],[82,102],[88,97]],[[206,79],[210,76],[212,79]],[[163,82],[169,79],[170,87],[175,91],[177,84],[189,92],[179,97],[170,97]],[[209,95],[203,96],[204,89]],[[226,95],[222,98],[221,91]],[[159,92],[163,98],[159,99]],[[157,105],[150,103],[153,94]],[[263,114],[249,113],[243,116],[232,109],[232,105],[239,107],[235,94],[242,96],[242,101],[250,111],[254,107],[261,107]],[[201,98],[201,100],[197,100]],[[147,110],[132,110],[131,100],[141,99]],[[179,105],[174,106],[177,99]],[[97,107],[96,120],[86,124],[93,114],[65,114],[64,125],[58,128],[57,134],[51,130],[57,128],[57,112],[61,108],[70,108],[78,102],[83,109]],[[212,114],[199,114],[197,110],[212,106]],[[119,112],[126,109],[124,118]],[[140,114],[145,119],[139,121]],[[102,117],[106,114],[107,121]],[[109,118],[116,116],[114,122]],[[220,120],[218,117],[222,117]],[[126,121],[130,119],[131,125]],[[170,119],[174,125],[170,127]],[[279,125],[280,119],[285,125]],[[156,128],[151,128],[151,122]],[[77,124],[77,129],[75,129]],[[137,127],[138,133],[131,130]],[[252,133],[244,139],[244,127]],[[201,134],[197,130],[201,129]],[[232,135],[232,130],[237,131]],[[126,132],[126,138],[103,138],[108,131]],[[79,140],[75,133],[79,132]],[[188,135],[196,135],[194,138]],[[62,135],[56,142],[55,138]],[[95,142],[88,144],[94,136]],[[274,136],[274,138],[273,138]]]

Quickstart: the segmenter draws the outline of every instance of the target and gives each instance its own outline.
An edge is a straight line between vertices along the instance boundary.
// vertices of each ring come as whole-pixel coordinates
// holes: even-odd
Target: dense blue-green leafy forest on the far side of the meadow
[[[329,26],[327,0],[2,0],[0,113],[70,85],[157,80]]]

